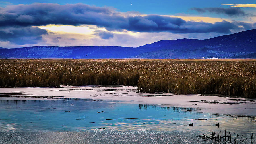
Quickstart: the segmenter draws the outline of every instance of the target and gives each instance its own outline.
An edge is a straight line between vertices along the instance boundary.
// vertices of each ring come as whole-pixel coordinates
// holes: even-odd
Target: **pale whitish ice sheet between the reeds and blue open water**
[[[0,97],[9,100],[43,100],[52,97],[110,100],[124,104],[201,108],[198,109],[199,112],[256,116],[256,99],[199,94],[135,93],[136,90],[136,87],[125,86],[0,87]]]

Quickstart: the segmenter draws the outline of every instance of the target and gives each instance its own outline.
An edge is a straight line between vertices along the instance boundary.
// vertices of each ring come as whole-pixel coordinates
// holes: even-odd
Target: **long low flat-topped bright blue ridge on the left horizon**
[[[135,48],[117,46],[34,46],[0,50],[0,57],[16,58],[126,58],[136,56]],[[120,51],[122,53],[120,54]]]

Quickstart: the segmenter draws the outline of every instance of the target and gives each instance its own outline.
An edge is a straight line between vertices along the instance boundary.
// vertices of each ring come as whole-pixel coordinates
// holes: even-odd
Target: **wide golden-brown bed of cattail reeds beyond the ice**
[[[3,59],[0,86],[136,86],[137,92],[255,98],[256,60]]]

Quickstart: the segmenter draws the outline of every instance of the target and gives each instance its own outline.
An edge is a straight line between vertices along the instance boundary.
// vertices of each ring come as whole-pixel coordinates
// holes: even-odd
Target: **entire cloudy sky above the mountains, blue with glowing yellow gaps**
[[[127,46],[256,28],[256,0],[0,1],[0,47]]]

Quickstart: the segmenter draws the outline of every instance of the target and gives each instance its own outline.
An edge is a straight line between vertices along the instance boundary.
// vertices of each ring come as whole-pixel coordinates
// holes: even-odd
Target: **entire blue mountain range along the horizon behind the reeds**
[[[255,58],[256,29],[206,40],[160,40],[137,48],[118,46],[35,46],[0,48],[0,58]]]

